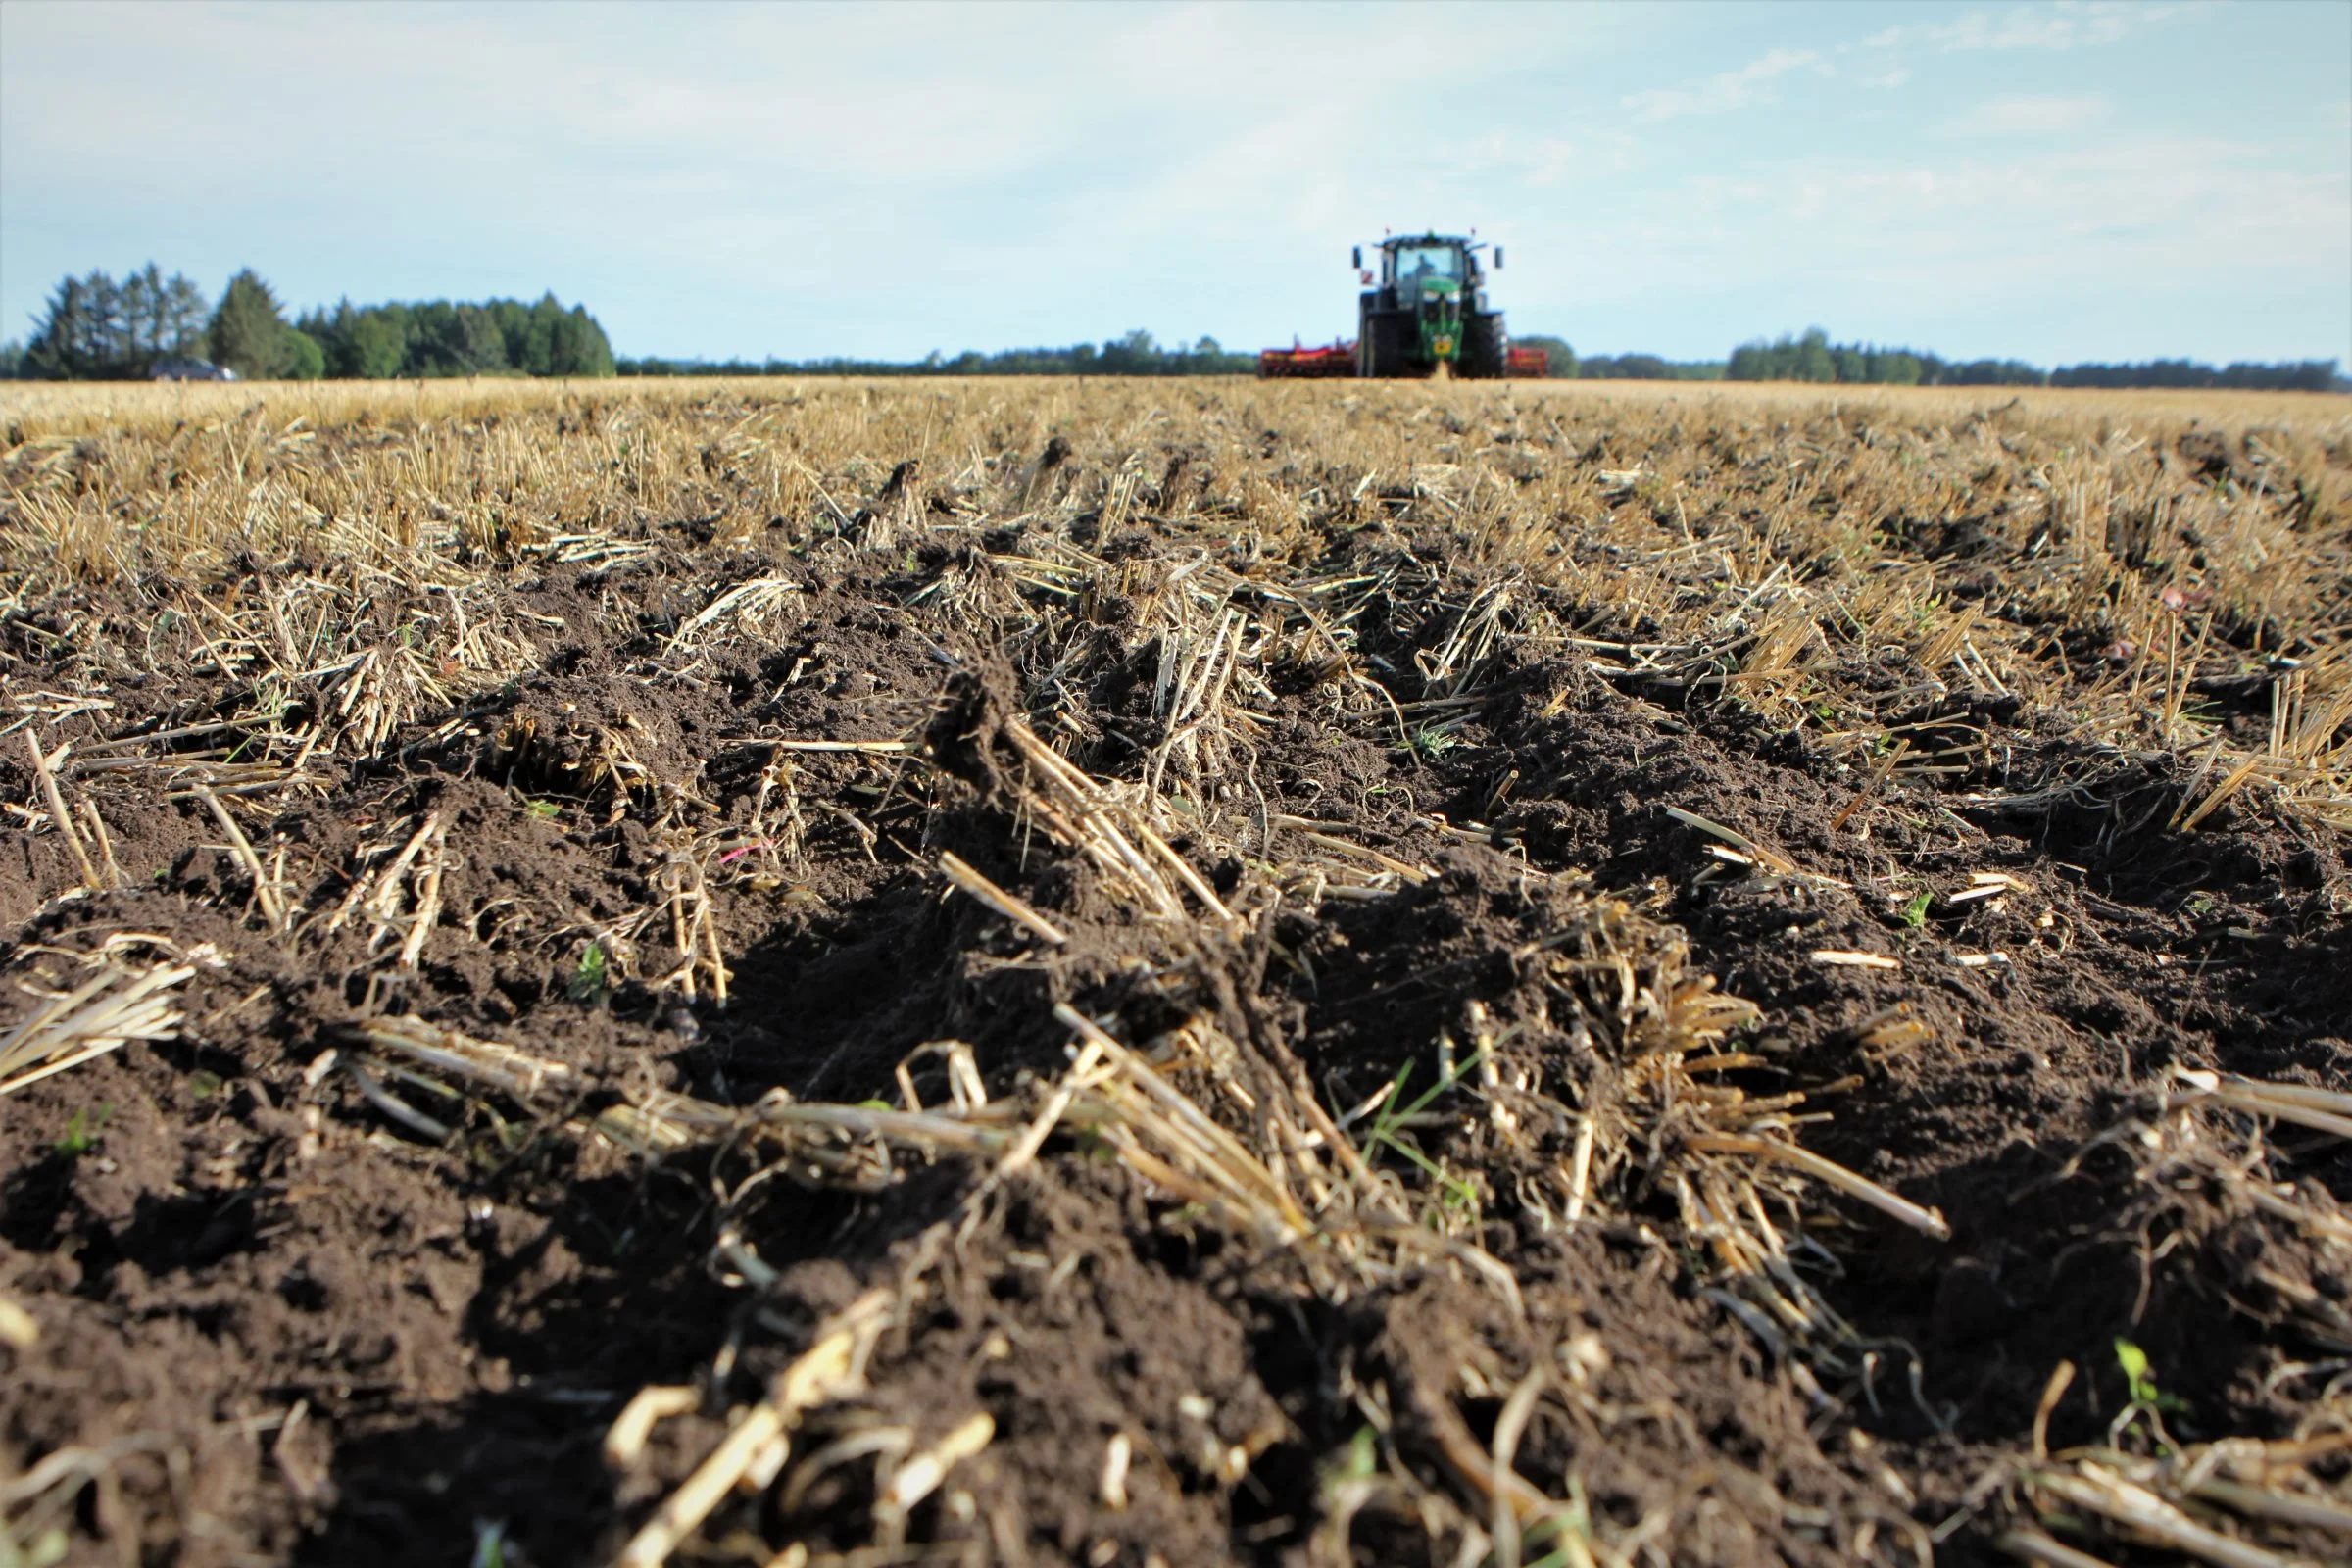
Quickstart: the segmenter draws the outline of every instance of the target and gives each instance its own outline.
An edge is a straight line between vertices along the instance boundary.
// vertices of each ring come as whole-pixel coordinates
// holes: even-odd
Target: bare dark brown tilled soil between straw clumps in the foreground
[[[1134,534],[1098,550],[1148,571],[1162,545]],[[1940,1561],[2004,1561],[1990,1540],[2009,1505],[1978,1481],[2020,1450],[2063,1359],[2084,1375],[2051,1441],[2107,1429],[2124,1406],[2119,1335],[2180,1401],[2180,1439],[2279,1436],[2296,1420],[2310,1389],[2279,1371],[2310,1345],[2263,1281],[2338,1300],[2345,1281],[2225,1194],[2152,1187],[2136,1145],[2098,1140],[2176,1065],[2352,1086],[2345,842],[2251,795],[2197,832],[2169,830],[2183,790],[2169,764],[2093,755],[2032,703],[1957,693],[1922,717],[1983,729],[1987,755],[2006,755],[2006,795],[2093,785],[2006,809],[1966,799],[1990,778],[1898,776],[1844,827],[1856,773],[1736,703],[1512,656],[1435,755],[1399,745],[1385,705],[1341,724],[1327,689],[1277,684],[1247,788],[1225,780],[1251,813],[1256,790],[1265,813],[1435,870],[1383,898],[1294,907],[1230,966],[1251,983],[1232,1006],[1270,1070],[1334,1110],[1406,1063],[1425,1084],[1470,1004],[1515,1030],[1512,1051],[1564,1053],[1524,961],[1562,900],[1613,893],[1679,929],[1693,971],[1762,1009],[1750,1048],[1766,1065],[1740,1074],[1748,1091],[1816,1093],[1809,1110],[1830,1119],[1809,1147],[1952,1225],[1938,1244],[1844,1199],[1813,1204],[1818,1288],[1886,1347],[1870,1382],[1823,1382],[1752,1338],[1665,1239],[1668,1194],[1545,1227],[1512,1197],[1531,1171],[1468,1133],[1428,1143],[1484,1173],[1479,1239],[1517,1276],[1524,1319],[1444,1262],[1334,1298],[1298,1258],[1188,1222],[1070,1143],[962,1229],[976,1173],[957,1159],[880,1192],[776,1182],[741,1211],[781,1272],[750,1291],[713,1262],[727,1173],[706,1154],[647,1164],[564,1133],[562,1112],[534,1131],[492,1124],[480,1103],[452,1112],[456,1135],[435,1147],[348,1079],[308,1081],[350,1020],[381,1013],[576,1067],[581,1114],[656,1086],[734,1105],[774,1088],[894,1100],[894,1067],[936,1039],[969,1041],[990,1093],[1018,1095],[1065,1060],[1054,1001],[1117,1016],[1138,1041],[1169,1025],[1129,961],[1141,940],[1122,947],[1082,863],[1023,837],[971,738],[993,701],[974,691],[1033,701],[1037,656],[917,590],[985,562],[884,569],[818,545],[790,562],[804,592],[774,644],[724,644],[691,679],[652,668],[713,585],[767,569],[666,552],[628,574],[517,571],[515,602],[564,628],[546,670],[475,698],[461,724],[421,715],[383,759],[339,762],[322,792],[240,806],[266,853],[285,846],[313,912],[292,938],[252,910],[247,872],[193,799],[99,797],[129,884],[111,893],[61,898],[78,875],[56,835],[14,832],[0,959],[19,987],[61,980],[118,933],[214,947],[183,987],[183,1039],[0,1103],[0,1295],[40,1326],[38,1347],[0,1349],[0,1458],[21,1472],[68,1446],[108,1450],[103,1483],[71,1507],[75,1561],[456,1563],[485,1561],[492,1528],[506,1563],[607,1559],[797,1335],[917,1260],[920,1309],[875,1349],[870,1394],[818,1413],[797,1443],[847,1458],[734,1505],[703,1561],[762,1561],[788,1540],[818,1559],[863,1547],[875,1467],[858,1434],[903,1427],[903,1453],[971,1410],[993,1415],[995,1441],[906,1526],[964,1542],[946,1561],[1423,1561],[1425,1497],[1486,1519],[1449,1443],[1484,1450],[1529,1366],[1559,1371],[1573,1345],[1597,1347],[1576,1361],[1578,1396],[1543,1406],[1517,1469],[1552,1495],[1573,1472],[1595,1519],[1646,1528],[1677,1563],[1907,1561],[1898,1542],[1955,1514]],[[1098,614],[1110,646],[1117,614]],[[1409,668],[1411,628],[1367,628]],[[71,639],[12,646],[12,691],[92,679]],[[1134,776],[1155,741],[1150,658],[1080,661],[1091,738],[1073,731],[1073,757],[1098,776]],[[49,745],[233,703],[188,675],[111,693],[103,724],[68,719]],[[600,733],[626,736],[642,776],[604,769]],[[691,1004],[654,990],[684,961],[666,917],[604,938],[626,961],[583,985],[586,945],[663,898],[659,823],[753,820],[771,738],[915,738],[917,752],[793,757],[797,846],[760,877],[769,863],[748,856],[715,889],[729,1006],[708,985]],[[673,811],[663,790],[691,804]],[[0,795],[38,802],[21,743],[0,752]],[[1806,875],[1743,879],[1665,806]],[[320,912],[362,853],[428,813],[456,853],[423,961],[397,971],[360,924],[327,931]],[[1444,835],[1430,813],[1482,830]],[[1489,827],[1494,842],[1470,842]],[[1004,919],[943,896],[941,851],[1068,917],[1077,940],[1040,959]],[[1244,875],[1209,856],[1200,870],[1225,886]],[[1973,872],[2018,889],[1950,903]],[[1903,969],[1825,969],[1816,950]],[[1969,969],[1959,952],[2006,961]],[[1898,1006],[1922,1039],[1858,1044]],[[946,1098],[936,1058],[915,1084]],[[2314,1192],[2352,1199],[2343,1145],[2279,1143]],[[644,1385],[701,1387],[701,1410],[612,1474],[600,1441]],[[1124,1509],[1101,1483],[1120,1434]]]

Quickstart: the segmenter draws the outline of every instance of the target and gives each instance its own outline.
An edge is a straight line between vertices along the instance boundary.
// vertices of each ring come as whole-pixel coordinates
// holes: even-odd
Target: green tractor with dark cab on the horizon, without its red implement
[[[1390,235],[1381,240],[1381,273],[1374,277],[1357,247],[1355,266],[1369,287],[1357,303],[1355,374],[1510,376],[1517,367],[1503,313],[1486,308],[1482,249],[1458,235]],[[1494,266],[1503,266],[1501,244],[1494,247]]]

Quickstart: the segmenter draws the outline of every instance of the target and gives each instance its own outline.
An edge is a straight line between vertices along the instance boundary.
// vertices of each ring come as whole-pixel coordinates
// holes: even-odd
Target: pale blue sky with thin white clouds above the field
[[[586,303],[623,355],[1355,331],[2352,364],[2352,2],[0,0],[0,339],[146,261]]]

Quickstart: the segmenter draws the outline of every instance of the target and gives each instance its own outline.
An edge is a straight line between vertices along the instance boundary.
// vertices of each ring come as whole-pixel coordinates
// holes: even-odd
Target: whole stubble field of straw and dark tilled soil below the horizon
[[[2352,1556],[2352,400],[0,437],[0,1563]]]

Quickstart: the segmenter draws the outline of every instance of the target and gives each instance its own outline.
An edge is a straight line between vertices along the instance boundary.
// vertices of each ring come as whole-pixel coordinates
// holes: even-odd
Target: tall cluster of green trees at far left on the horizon
[[[612,343],[586,306],[423,301],[318,308],[287,320],[252,268],[219,301],[153,261],[120,282],[66,277],[0,374],[40,381],[143,381],[167,360],[205,360],[252,381],[393,376],[609,376]]]

